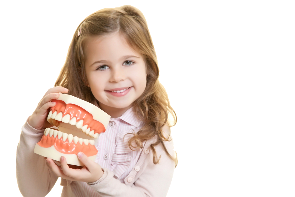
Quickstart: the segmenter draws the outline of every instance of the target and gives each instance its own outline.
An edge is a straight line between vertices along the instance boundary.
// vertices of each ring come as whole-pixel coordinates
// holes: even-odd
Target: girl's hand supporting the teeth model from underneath
[[[77,156],[79,160],[85,165],[81,169],[70,168],[65,157],[63,156],[60,158],[61,169],[55,164],[55,162],[53,162],[52,159],[47,158],[46,161],[56,176],[71,181],[93,183],[99,180],[102,175],[104,175],[104,171],[101,170],[101,166],[98,163],[91,161],[84,153],[78,152]]]

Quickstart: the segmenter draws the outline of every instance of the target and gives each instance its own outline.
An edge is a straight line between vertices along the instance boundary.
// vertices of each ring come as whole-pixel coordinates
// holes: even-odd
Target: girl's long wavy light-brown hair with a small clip
[[[128,44],[140,53],[147,69],[147,85],[143,94],[134,102],[133,110],[144,126],[128,141],[132,150],[143,148],[143,142],[157,136],[157,141],[150,145],[153,152],[153,162],[157,164],[159,158],[155,146],[162,144],[168,156],[178,164],[177,154],[172,157],[163,141],[171,141],[165,137],[163,126],[174,126],[177,122],[176,113],[170,105],[168,94],[159,81],[159,67],[156,51],[148,29],[148,23],[143,13],[136,7],[124,5],[116,8],[104,8],[86,17],[77,27],[68,49],[64,65],[54,86],[63,86],[69,89],[67,94],[78,97],[94,104],[96,100],[91,89],[86,86],[84,53],[88,38],[119,32],[124,35]],[[78,35],[80,33],[80,35]],[[168,123],[168,115],[173,120]]]

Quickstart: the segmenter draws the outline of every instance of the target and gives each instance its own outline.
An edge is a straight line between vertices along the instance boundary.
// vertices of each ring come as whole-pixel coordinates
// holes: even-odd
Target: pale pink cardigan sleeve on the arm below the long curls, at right
[[[167,129],[168,128],[166,128],[166,131]],[[176,155],[174,154],[172,137],[171,141],[165,141],[164,144],[171,156],[176,157]],[[155,146],[155,150],[157,152],[158,158],[161,155],[159,163],[153,163],[153,152],[149,151],[148,157],[146,157],[144,165],[142,166],[144,167],[144,169],[138,171],[140,175],[139,177],[137,177],[132,186],[121,183],[119,180],[113,178],[114,173],[106,168],[104,169],[104,175],[101,177],[100,180],[94,183],[88,183],[88,185],[95,189],[102,197],[167,196],[173,178],[175,163],[165,153],[165,150],[161,144]]]

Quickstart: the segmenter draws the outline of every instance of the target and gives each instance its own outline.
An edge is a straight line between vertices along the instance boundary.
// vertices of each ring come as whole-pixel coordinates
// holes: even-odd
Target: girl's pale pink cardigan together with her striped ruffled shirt
[[[29,119],[30,117],[28,117]],[[27,119],[27,120],[28,120]],[[72,182],[61,179],[62,197],[100,197],[100,196],[166,196],[173,178],[175,164],[159,144],[155,147],[159,164],[153,164],[150,144],[155,138],[146,141],[143,149],[131,151],[127,145],[131,135],[142,127],[132,112],[127,110],[119,118],[111,118],[105,133],[99,135],[96,145],[98,154],[95,162],[104,170],[101,179],[94,183]],[[170,133],[170,128],[164,129]],[[32,128],[26,121],[22,126],[16,153],[16,175],[20,193],[24,196],[46,196],[55,185],[58,177],[50,170],[44,157],[33,152],[44,130]],[[171,139],[172,136],[170,135]],[[173,140],[165,141],[168,152],[174,152]]]

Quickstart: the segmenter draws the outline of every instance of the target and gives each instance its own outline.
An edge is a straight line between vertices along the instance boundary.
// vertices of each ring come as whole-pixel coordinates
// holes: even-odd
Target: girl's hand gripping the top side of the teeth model
[[[52,87],[47,90],[45,95],[42,97],[40,102],[37,105],[37,108],[35,111],[32,113],[30,116],[28,123],[30,126],[37,130],[45,129],[47,127],[52,127],[50,123],[47,121],[47,115],[48,115],[48,110],[51,107],[54,107],[56,105],[55,102],[51,102],[52,99],[58,99],[59,94],[57,93],[68,93],[68,89],[57,86],[57,87]]]

